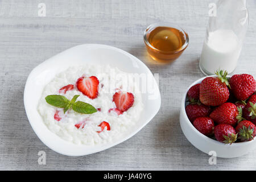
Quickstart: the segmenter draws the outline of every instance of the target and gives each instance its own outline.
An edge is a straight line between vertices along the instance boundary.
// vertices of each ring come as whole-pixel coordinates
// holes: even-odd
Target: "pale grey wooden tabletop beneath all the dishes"
[[[45,3],[46,16],[38,16]],[[34,170],[223,170],[256,169],[256,151],[236,159],[217,159],[197,150],[179,125],[181,95],[203,77],[199,57],[214,0],[2,0],[0,1],[0,169]],[[256,1],[249,0],[250,24],[236,73],[256,69]],[[154,63],[147,55],[143,31],[151,23],[179,24],[189,34],[183,55],[170,65]],[[107,44],[141,59],[159,73],[162,106],[138,134],[108,150],[69,157],[45,146],[32,130],[23,105],[27,76],[36,65],[70,47]],[[38,152],[46,152],[46,165]]]

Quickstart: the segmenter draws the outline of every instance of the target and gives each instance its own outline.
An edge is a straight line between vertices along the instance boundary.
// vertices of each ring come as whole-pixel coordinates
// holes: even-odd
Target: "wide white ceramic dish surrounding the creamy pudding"
[[[65,71],[65,69],[71,65],[81,65],[85,63],[101,65],[109,64],[110,66],[117,67],[121,71],[127,73],[146,73],[147,76],[152,79],[151,84],[154,86],[152,87],[151,92],[142,93],[144,108],[139,122],[134,126],[129,135],[125,138],[120,138],[114,143],[85,146],[67,142],[56,134],[53,134],[47,126],[44,125],[42,117],[38,113],[38,101],[44,86],[48,84],[57,73]],[[150,122],[156,113],[158,113],[160,105],[161,99],[159,88],[150,69],[148,69],[141,60],[130,53],[115,47],[100,44],[84,44],[76,46],[44,61],[32,70],[27,78],[24,89],[24,106],[30,125],[36,135],[38,135],[39,139],[52,150],[69,156],[92,154],[113,147],[116,144],[129,139]]]

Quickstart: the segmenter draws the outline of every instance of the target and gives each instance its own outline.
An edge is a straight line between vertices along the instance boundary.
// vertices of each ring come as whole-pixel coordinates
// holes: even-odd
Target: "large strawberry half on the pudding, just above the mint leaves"
[[[77,89],[85,96],[94,99],[98,97],[98,78],[95,76],[81,77],[77,80]]]

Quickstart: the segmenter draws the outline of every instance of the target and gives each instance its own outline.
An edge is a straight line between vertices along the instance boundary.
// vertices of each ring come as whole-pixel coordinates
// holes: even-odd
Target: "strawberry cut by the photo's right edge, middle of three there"
[[[243,108],[243,118],[256,125],[256,95],[252,95],[247,101],[245,108]]]

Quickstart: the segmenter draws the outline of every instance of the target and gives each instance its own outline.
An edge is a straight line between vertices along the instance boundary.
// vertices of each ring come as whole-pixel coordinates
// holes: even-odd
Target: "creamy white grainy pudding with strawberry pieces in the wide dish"
[[[38,111],[48,129],[64,140],[90,146],[114,142],[129,134],[143,110],[139,83],[136,79],[124,82],[128,75],[109,65],[70,67],[45,86]],[[62,108],[46,102],[45,98],[52,94],[69,101],[79,95],[77,101],[92,105],[97,112],[81,114],[69,109],[64,114]]]

